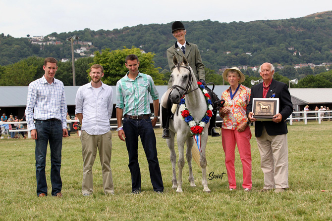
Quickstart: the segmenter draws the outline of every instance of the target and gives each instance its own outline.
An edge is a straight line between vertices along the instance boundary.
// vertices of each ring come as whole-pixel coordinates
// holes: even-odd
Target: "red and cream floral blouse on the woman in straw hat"
[[[236,130],[244,122],[248,122],[247,105],[250,100],[251,90],[240,85],[233,99],[230,99],[230,87],[222,92],[221,99],[225,100],[224,107],[230,107],[232,110],[222,119],[222,128]]]

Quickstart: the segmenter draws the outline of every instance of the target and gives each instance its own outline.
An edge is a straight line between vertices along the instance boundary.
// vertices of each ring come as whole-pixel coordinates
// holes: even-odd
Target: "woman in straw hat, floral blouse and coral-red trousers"
[[[223,79],[229,83],[221,99],[225,100],[224,107],[220,109],[223,119],[221,127],[222,147],[225,152],[225,164],[229,183],[229,190],[236,189],[235,181],[235,144],[239,150],[243,170],[244,191],[250,191],[251,180],[251,132],[246,115],[247,104],[250,99],[250,89],[241,85],[245,80],[242,72],[234,67],[222,73]]]

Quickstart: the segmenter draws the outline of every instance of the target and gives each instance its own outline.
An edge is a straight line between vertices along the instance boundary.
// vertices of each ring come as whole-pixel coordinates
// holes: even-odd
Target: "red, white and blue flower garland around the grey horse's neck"
[[[204,85],[202,85],[201,82],[197,82],[198,87],[202,90],[204,93],[206,103],[208,105],[208,110],[206,111],[204,117],[202,120],[197,124],[195,119],[191,116],[190,111],[187,109],[186,103],[185,103],[185,96],[181,98],[179,110],[181,113],[181,116],[185,122],[187,122],[188,126],[190,127],[190,132],[194,135],[194,138],[196,140],[198,150],[201,152],[201,145],[200,145],[200,136],[203,134],[203,129],[207,123],[209,123],[210,118],[212,117],[212,101],[210,99],[210,95],[208,91],[205,89]]]

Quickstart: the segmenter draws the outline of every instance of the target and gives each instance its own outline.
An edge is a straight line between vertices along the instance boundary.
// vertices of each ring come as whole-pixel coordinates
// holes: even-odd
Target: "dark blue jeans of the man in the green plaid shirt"
[[[141,171],[138,164],[138,136],[141,137],[143,149],[149,163],[150,179],[154,191],[164,191],[162,173],[157,157],[156,136],[151,119],[123,119],[123,131],[129,155],[132,191],[141,190]]]

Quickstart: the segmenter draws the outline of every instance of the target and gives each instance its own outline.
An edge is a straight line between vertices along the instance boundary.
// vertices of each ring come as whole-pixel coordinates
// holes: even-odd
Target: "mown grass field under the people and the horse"
[[[253,133],[253,127],[251,127]],[[227,176],[208,180],[211,193],[204,193],[202,173],[193,162],[197,187],[188,182],[184,167],[183,193],[171,188],[171,165],[162,131],[155,130],[165,192],[156,194],[151,185],[145,154],[139,145],[142,193],[130,194],[131,178],[125,143],[113,133],[111,168],[115,195],[103,193],[98,155],[94,165],[94,194],[83,197],[81,142],[76,134],[63,139],[61,177],[63,198],[36,195],[35,142],[31,139],[0,140],[0,221],[154,221],[154,220],[332,220],[332,122],[294,123],[288,126],[289,190],[260,193],[264,185],[256,139],[251,139],[253,189],[242,188],[242,166],[236,150],[237,190],[228,190]],[[50,155],[47,179],[49,193]],[[226,173],[221,137],[209,137],[207,174]]]

